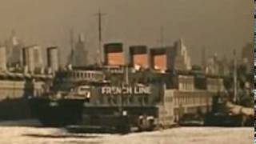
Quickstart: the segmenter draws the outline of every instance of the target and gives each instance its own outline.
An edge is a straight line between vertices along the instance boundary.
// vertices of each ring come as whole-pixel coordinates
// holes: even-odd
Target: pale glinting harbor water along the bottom
[[[29,124],[29,125],[28,125]],[[37,122],[0,122],[1,144],[245,144],[254,142],[252,127],[178,127],[130,134],[70,134]]]

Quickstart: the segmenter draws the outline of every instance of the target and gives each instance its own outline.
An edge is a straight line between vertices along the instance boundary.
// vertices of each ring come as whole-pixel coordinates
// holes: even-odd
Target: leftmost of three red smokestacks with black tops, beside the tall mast
[[[125,65],[122,43],[108,43],[104,45],[104,63],[108,66]]]

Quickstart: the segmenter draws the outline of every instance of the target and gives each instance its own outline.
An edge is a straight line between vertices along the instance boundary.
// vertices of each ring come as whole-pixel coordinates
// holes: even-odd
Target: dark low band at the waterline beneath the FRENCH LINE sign
[[[82,126],[98,126],[118,132],[153,130],[158,118],[157,106],[87,106],[83,108]]]

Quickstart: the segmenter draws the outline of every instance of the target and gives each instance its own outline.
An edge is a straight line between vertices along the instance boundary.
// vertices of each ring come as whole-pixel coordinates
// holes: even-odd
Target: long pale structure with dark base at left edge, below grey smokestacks
[[[42,93],[50,75],[0,72],[0,120],[32,118],[27,97]]]

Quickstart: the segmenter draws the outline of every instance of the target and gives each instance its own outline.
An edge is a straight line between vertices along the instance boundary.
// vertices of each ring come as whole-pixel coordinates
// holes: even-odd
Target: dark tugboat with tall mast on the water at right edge
[[[217,94],[214,97],[212,111],[206,114],[206,126],[254,126],[254,108],[248,104],[242,106],[238,101],[238,68],[234,53],[234,72],[233,72],[233,99]],[[242,75],[242,74],[240,74]],[[241,77],[241,76],[240,76]],[[230,81],[231,82],[231,81]],[[250,97],[253,94],[246,94],[249,99],[245,103],[251,103]],[[250,96],[249,96],[250,95]],[[234,104],[235,103],[235,104]],[[248,106],[247,106],[248,105]]]

